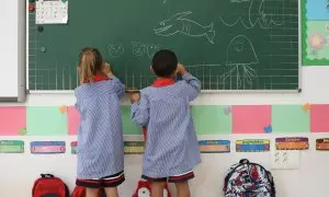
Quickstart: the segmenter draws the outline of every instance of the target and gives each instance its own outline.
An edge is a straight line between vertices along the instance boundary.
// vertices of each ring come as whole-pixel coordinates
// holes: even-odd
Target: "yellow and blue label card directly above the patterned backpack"
[[[270,151],[270,140],[268,139],[246,139],[236,141],[237,152],[265,152]]]

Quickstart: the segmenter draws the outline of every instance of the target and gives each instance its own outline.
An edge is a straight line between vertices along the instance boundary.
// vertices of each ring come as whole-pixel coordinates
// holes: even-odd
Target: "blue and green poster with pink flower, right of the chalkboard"
[[[303,66],[329,66],[329,2],[300,2]]]

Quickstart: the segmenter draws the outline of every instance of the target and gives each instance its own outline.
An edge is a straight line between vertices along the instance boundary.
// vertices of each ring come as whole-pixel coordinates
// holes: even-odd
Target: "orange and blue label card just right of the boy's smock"
[[[224,153],[230,152],[229,140],[201,140],[198,141],[201,153]]]

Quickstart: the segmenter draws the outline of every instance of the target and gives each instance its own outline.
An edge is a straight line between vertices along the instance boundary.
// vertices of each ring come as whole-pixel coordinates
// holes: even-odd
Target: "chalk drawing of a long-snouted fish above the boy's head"
[[[185,16],[192,14],[191,11],[177,13],[169,19],[161,21],[154,30],[157,35],[172,36],[178,33],[191,37],[206,37],[209,43],[214,44],[215,31],[214,23],[203,26],[200,23],[186,19]]]

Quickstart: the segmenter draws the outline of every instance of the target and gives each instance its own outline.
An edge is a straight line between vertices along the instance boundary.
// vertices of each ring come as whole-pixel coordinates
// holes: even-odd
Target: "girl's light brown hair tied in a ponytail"
[[[94,74],[102,70],[102,55],[97,48],[83,48],[79,56],[80,84],[93,81]]]

